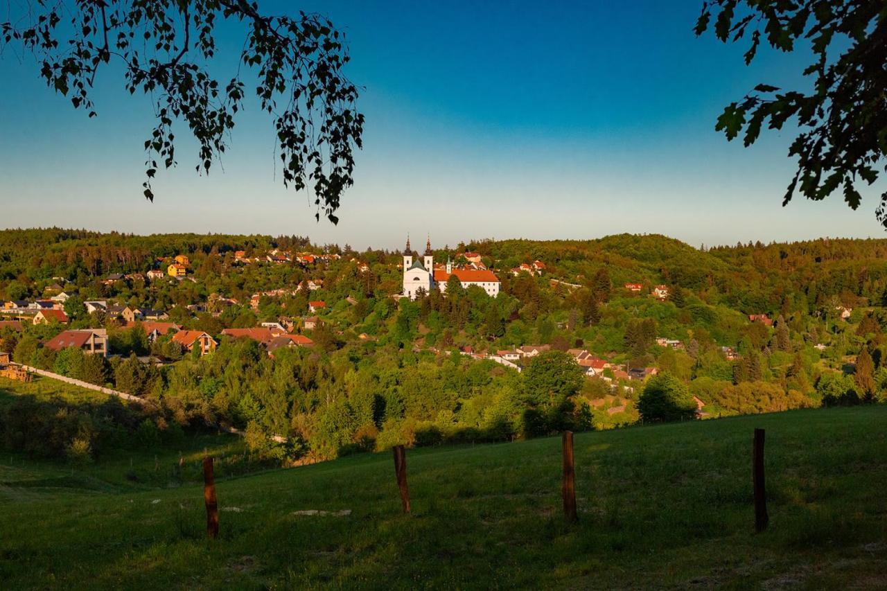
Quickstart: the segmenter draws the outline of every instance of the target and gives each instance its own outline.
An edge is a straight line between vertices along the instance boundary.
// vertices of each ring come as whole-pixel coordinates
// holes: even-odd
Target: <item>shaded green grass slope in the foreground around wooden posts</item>
[[[883,588],[887,406],[576,436],[579,523],[561,516],[560,438],[409,450],[225,477],[230,437],[94,466],[0,457],[4,588]],[[767,432],[770,529],[755,534],[752,430]],[[202,439],[201,439],[202,437]],[[205,538],[196,462],[220,459]],[[10,460],[12,459],[12,464]],[[130,466],[130,461],[133,463]],[[131,470],[160,476],[130,481]],[[233,473],[233,472],[232,472]],[[296,511],[350,509],[347,516]]]

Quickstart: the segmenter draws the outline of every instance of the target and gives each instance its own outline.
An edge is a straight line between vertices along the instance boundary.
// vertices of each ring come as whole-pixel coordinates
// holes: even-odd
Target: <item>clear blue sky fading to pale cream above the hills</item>
[[[349,77],[365,87],[365,147],[341,222],[314,220],[304,193],[275,177],[270,118],[238,121],[224,170],[194,172],[177,146],[153,203],[141,195],[151,129],[146,98],[98,81],[98,118],[75,111],[33,59],[0,59],[0,227],[309,235],[355,248],[475,238],[596,238],[658,232],[699,246],[737,240],[883,236],[876,195],[781,207],[794,171],[790,130],[756,146],[714,131],[723,106],[756,83],[798,83],[803,55],[762,51],[692,28],[701,0],[430,2],[264,0],[326,13],[347,32]],[[242,31],[225,27],[232,59]],[[247,89],[250,79],[245,78]],[[177,138],[186,135],[180,125]]]

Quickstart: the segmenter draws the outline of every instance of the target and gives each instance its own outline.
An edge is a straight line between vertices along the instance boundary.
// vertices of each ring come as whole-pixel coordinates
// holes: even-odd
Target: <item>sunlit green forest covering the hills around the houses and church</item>
[[[25,322],[0,338],[21,363],[152,398],[158,429],[232,424],[260,453],[290,461],[885,397],[887,240],[693,248],[623,234],[477,240],[435,256],[463,265],[467,252],[496,272],[497,297],[455,281],[445,296],[397,299],[401,252],[297,236],[8,230],[0,297],[64,289],[69,325]],[[189,257],[183,278],[145,279],[177,255]],[[533,262],[544,271],[511,272]],[[657,286],[668,295],[654,297]],[[95,300],[165,311],[219,346],[201,357],[171,335],[151,342],[138,326],[87,313]],[[310,314],[311,301],[326,306]],[[313,346],[272,357],[263,343],[222,335],[278,321]],[[43,346],[87,327],[106,328],[109,359]],[[510,365],[484,359],[527,345],[547,351]],[[590,375],[577,351],[606,366]]]

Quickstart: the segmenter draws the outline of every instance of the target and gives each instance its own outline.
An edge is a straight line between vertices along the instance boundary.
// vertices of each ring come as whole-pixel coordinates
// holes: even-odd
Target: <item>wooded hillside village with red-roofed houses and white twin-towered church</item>
[[[293,398],[273,421],[265,403],[250,403],[257,410],[246,411],[215,403],[210,410],[193,401],[176,411],[183,420],[211,414],[241,428],[256,422],[270,430],[296,429],[310,440],[325,407],[311,392],[319,394],[315,389],[326,387],[326,380],[340,384],[351,367],[372,375],[368,383],[376,384],[376,393],[366,395],[376,398],[365,412],[375,418],[355,418],[342,445],[362,437],[362,429],[381,437],[376,431],[386,425],[410,433],[420,423],[447,431],[462,425],[475,403],[461,391],[469,386],[449,383],[443,359],[483,367],[483,379],[471,389],[485,383],[483,389],[519,392],[522,382],[514,380],[532,381],[520,376],[534,359],[554,352],[569,358],[584,380],[570,395],[571,412],[587,414],[582,421],[598,429],[636,422],[640,391],[662,373],[686,384],[701,418],[876,398],[887,382],[880,352],[887,248],[858,241],[703,251],[657,236],[612,237],[597,245],[480,241],[439,249],[429,238],[421,253],[409,240],[399,251],[358,253],[298,237],[4,235],[8,245],[47,239],[51,245],[10,246],[0,264],[0,338],[14,362],[171,400],[161,392],[181,389],[181,372],[194,373],[187,379],[207,388],[206,372],[222,380],[230,371],[221,359],[247,354],[264,367],[251,357],[261,354],[271,364],[263,372],[295,364],[292,387],[309,389],[308,399]],[[852,262],[843,254],[857,245],[873,259]],[[766,258],[774,248],[793,254]],[[833,257],[828,275],[796,282],[799,291],[786,289],[791,284],[782,279],[809,275],[823,255]],[[772,272],[746,272],[748,256],[772,264]],[[745,273],[748,289],[721,291],[737,273]],[[854,372],[860,354],[871,366],[861,382]],[[193,365],[199,359],[207,362]],[[389,363],[401,368],[396,377],[385,377]],[[305,382],[304,372],[318,368],[329,377]],[[434,387],[452,397],[416,414],[415,424],[405,394],[413,371],[434,374],[423,379],[442,380]],[[395,382],[384,385],[389,379]],[[342,400],[357,413],[349,398],[353,389],[341,384],[334,388],[345,388]],[[417,382],[417,400],[431,396],[423,393],[428,387]],[[183,390],[181,396],[192,395]],[[522,404],[519,398],[508,404]],[[405,410],[390,414],[404,404]],[[500,403],[483,404],[493,405],[483,411],[490,413]],[[444,408],[451,419],[441,418]],[[509,408],[503,410],[509,416],[519,412]],[[302,415],[310,421],[298,427],[309,420]],[[482,428],[496,420],[478,415],[471,421]],[[518,423],[509,419],[506,430],[520,430]]]

